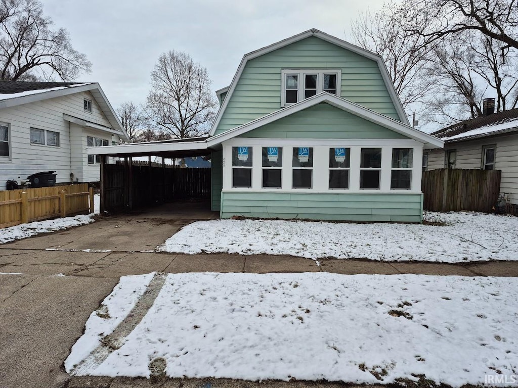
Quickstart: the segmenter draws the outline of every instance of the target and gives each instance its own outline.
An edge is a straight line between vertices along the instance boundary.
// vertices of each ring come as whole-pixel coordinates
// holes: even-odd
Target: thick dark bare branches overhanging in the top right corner
[[[404,0],[395,20],[413,20],[405,31],[425,38],[425,44],[461,31],[478,31],[518,49],[516,0]]]

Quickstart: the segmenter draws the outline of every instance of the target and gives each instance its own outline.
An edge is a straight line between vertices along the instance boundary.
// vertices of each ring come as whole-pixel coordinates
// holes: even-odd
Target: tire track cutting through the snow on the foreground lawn
[[[71,376],[84,376],[102,364],[108,356],[124,345],[125,339],[137,327],[142,318],[147,314],[153,305],[156,297],[159,295],[162,286],[164,286],[167,274],[156,272],[151,279],[148,288],[140,296],[135,306],[128,312],[126,318],[122,320],[113,331],[101,339],[101,343],[97,346],[83,361],[81,361],[73,370],[70,371]]]

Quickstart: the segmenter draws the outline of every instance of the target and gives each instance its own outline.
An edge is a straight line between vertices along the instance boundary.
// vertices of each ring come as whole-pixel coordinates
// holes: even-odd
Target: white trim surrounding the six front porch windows
[[[383,145],[380,145],[383,144]],[[252,147],[252,187],[232,187],[232,146]],[[282,147],[280,189],[262,187],[262,147]],[[293,147],[313,147],[312,189],[293,189]],[[329,147],[350,148],[349,189],[329,189]],[[382,148],[380,189],[359,188],[361,148]],[[223,143],[223,191],[225,192],[312,192],[312,193],[421,193],[421,163],[412,165],[411,189],[391,189],[392,148],[413,148],[413,160],[423,156],[423,143],[411,139],[253,139],[234,138]]]

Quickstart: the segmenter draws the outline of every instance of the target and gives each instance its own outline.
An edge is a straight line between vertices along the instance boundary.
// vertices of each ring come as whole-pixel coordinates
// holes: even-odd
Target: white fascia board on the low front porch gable
[[[436,138],[435,136],[428,135],[428,133],[421,132],[420,130],[412,128],[406,124],[400,123],[397,120],[394,120],[390,117],[382,115],[381,113],[372,111],[370,109],[362,107],[361,105],[357,105],[354,102],[351,102],[349,100],[343,99],[341,97],[338,97],[334,94],[330,94],[327,92],[320,93],[316,96],[307,98],[303,101],[299,101],[293,105],[290,105],[289,107],[285,107],[281,110],[270,113],[261,118],[257,118],[254,121],[243,124],[239,127],[228,130],[226,132],[220,133],[220,135],[207,139],[207,142],[208,142],[209,146],[214,146],[215,144],[232,139],[236,136],[242,135],[243,133],[246,133],[253,129],[262,127],[266,124],[270,124],[272,122],[279,120],[280,118],[283,118],[283,117],[289,116],[293,113],[299,112],[301,110],[310,108],[321,102],[329,103],[330,105],[333,105],[334,107],[337,107],[339,109],[352,113],[356,116],[365,118],[365,120],[368,120],[372,123],[378,124],[384,128],[391,129],[395,132],[400,133],[401,135],[408,136],[411,139],[420,141],[421,143],[424,143],[425,146],[431,145],[431,146],[436,146],[436,147],[440,147],[440,148],[442,148],[444,146],[444,142],[442,140]]]

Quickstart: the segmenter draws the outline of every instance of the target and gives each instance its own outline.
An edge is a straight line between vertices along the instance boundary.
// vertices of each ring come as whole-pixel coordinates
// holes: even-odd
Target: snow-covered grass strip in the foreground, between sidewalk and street
[[[102,314],[90,316],[67,372],[149,281],[121,278]],[[149,377],[150,361],[163,357],[170,377],[482,384],[518,372],[517,301],[516,278],[169,274],[122,346],[83,375]]]

